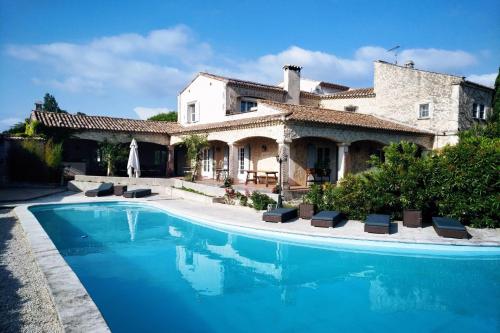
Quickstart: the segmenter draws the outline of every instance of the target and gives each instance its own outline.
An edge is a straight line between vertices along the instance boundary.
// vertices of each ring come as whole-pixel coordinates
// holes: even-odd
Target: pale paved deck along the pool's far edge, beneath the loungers
[[[108,196],[98,198],[97,200],[125,201],[127,199]],[[36,199],[32,202],[66,203],[90,201],[96,201],[96,199],[87,198],[82,193],[65,192]],[[335,228],[317,228],[312,227],[309,220],[303,219],[297,219],[287,223],[266,223],[262,221],[262,212],[257,212],[252,208],[193,202],[175,196],[154,195],[149,198],[134,199],[134,201],[151,202],[172,213],[194,220],[214,221],[218,224],[227,226],[252,228],[255,230],[293,235],[416,244],[500,246],[500,228],[475,229],[467,227],[467,231],[472,236],[470,239],[453,239],[438,236],[434,228],[430,225],[424,228],[407,228],[402,225],[401,221],[396,221],[391,224],[390,234],[370,234],[364,232],[364,224],[362,222],[355,220],[344,221]]]

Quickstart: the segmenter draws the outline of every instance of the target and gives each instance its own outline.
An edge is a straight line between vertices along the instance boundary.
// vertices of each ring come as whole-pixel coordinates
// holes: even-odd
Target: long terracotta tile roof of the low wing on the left
[[[168,134],[180,127],[177,123],[101,116],[80,116],[69,113],[33,111],[35,119],[48,127],[72,128],[76,130],[99,130],[112,132],[136,132]]]

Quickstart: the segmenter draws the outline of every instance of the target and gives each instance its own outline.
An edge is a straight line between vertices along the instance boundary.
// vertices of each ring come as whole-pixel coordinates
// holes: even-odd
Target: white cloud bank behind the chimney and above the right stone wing
[[[284,64],[303,66],[303,76],[316,80],[371,85],[373,61],[394,61],[394,54],[379,46],[363,46],[353,57],[339,57],[332,53],[307,50],[298,46],[242,62],[229,74],[249,80],[276,83],[282,80],[279,70]],[[416,68],[453,74],[474,65],[476,57],[465,51],[441,49],[404,49],[398,54],[398,62],[413,60]],[[223,71],[224,72],[224,71]]]

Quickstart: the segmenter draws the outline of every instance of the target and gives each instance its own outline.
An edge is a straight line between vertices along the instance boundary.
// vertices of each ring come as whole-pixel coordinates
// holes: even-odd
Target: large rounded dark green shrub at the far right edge
[[[500,139],[462,135],[434,159],[431,192],[440,215],[500,227]]]

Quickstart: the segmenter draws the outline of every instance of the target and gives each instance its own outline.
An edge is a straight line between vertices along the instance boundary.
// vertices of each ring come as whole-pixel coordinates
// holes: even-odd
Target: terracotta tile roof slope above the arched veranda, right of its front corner
[[[430,132],[363,113],[336,111],[305,105],[284,104],[267,100],[261,101],[260,103],[267,104],[275,109],[285,112],[285,119],[287,121],[303,121],[308,123],[373,128],[379,130],[433,135]]]

